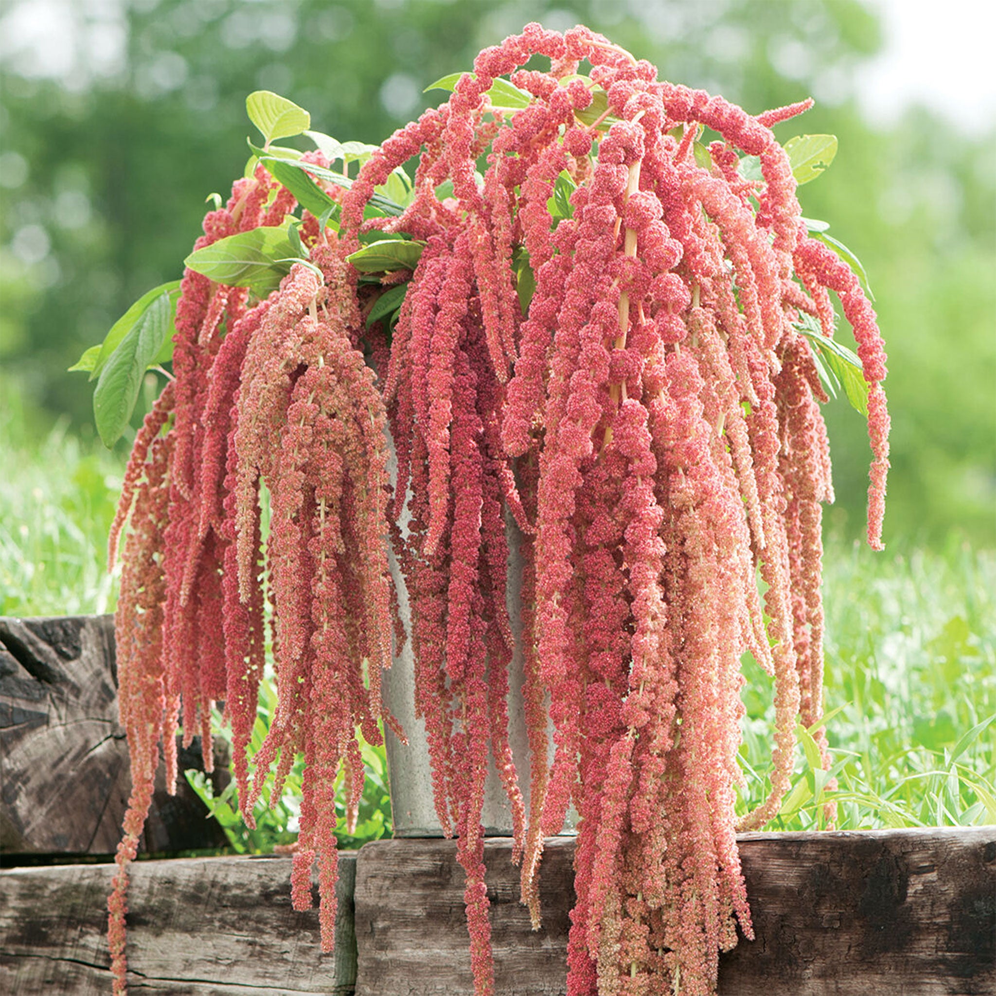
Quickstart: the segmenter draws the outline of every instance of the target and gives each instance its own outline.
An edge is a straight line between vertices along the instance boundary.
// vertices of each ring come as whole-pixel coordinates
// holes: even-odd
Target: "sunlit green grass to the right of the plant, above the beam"
[[[825,566],[837,827],[996,823],[996,553],[832,542]],[[741,754],[753,804],[767,786],[756,772],[769,765],[771,680],[753,664],[747,675]],[[809,750],[771,830],[823,826],[826,776],[800,733]]]

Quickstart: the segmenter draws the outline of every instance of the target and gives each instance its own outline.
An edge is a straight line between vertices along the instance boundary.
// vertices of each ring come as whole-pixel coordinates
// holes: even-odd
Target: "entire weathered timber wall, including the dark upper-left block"
[[[112,850],[127,792],[123,762],[108,760],[124,749],[113,699],[106,620],[0,621],[3,856],[10,865],[36,854],[0,872],[2,993],[110,991],[113,867],[46,866],[37,853]],[[160,809],[146,848],[195,846],[189,828],[210,827],[195,802],[185,816]],[[65,829],[57,835],[51,821]],[[571,838],[548,844],[534,932],[510,842],[486,845],[501,996],[565,991],[573,848]],[[996,993],[996,828],[749,834],[740,851],[757,939],[721,958],[721,994]],[[131,986],[191,996],[470,994],[462,893],[452,842],[382,841],[344,854],[337,947],[322,955],[317,910],[291,908],[290,859],[139,862]]]

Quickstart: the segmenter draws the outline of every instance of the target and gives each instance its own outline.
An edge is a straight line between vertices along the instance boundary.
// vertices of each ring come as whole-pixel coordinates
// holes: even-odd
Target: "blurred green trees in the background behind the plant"
[[[242,172],[244,98],[378,141],[529,20],[584,22],[662,76],[760,112],[813,94],[785,140],[840,151],[804,213],[864,261],[890,364],[886,541],[996,545],[996,125],[910,109],[863,118],[855,69],[882,44],[859,0],[7,0],[0,20],[0,391],[37,438],[93,439],[91,386],[64,373],[149,287],[180,275],[205,196]],[[844,337],[846,339],[846,337]],[[863,533],[869,451],[827,407],[838,505]],[[2,440],[0,440],[2,441]],[[119,457],[127,440],[120,443]]]

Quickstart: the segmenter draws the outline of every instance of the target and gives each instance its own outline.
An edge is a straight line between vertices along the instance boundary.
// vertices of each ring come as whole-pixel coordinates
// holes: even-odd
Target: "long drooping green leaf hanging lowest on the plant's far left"
[[[151,301],[111,354],[94,390],[94,420],[104,444],[121,437],[138,399],[141,378],[172,332],[169,292]]]

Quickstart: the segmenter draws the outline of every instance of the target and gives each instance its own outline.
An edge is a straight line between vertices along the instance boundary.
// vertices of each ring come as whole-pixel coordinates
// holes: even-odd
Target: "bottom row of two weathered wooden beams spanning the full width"
[[[562,996],[574,841],[548,842],[537,932],[519,904],[510,842],[489,840],[485,851],[496,992]],[[740,851],[757,939],[721,957],[721,996],[996,992],[996,829],[752,834]],[[349,853],[341,861],[344,929],[326,956],[317,911],[291,909],[287,858],[137,863],[132,987],[347,996],[355,983],[357,996],[469,996],[453,842],[377,842],[359,861]],[[109,991],[112,873],[107,865],[0,871],[0,992]]]

